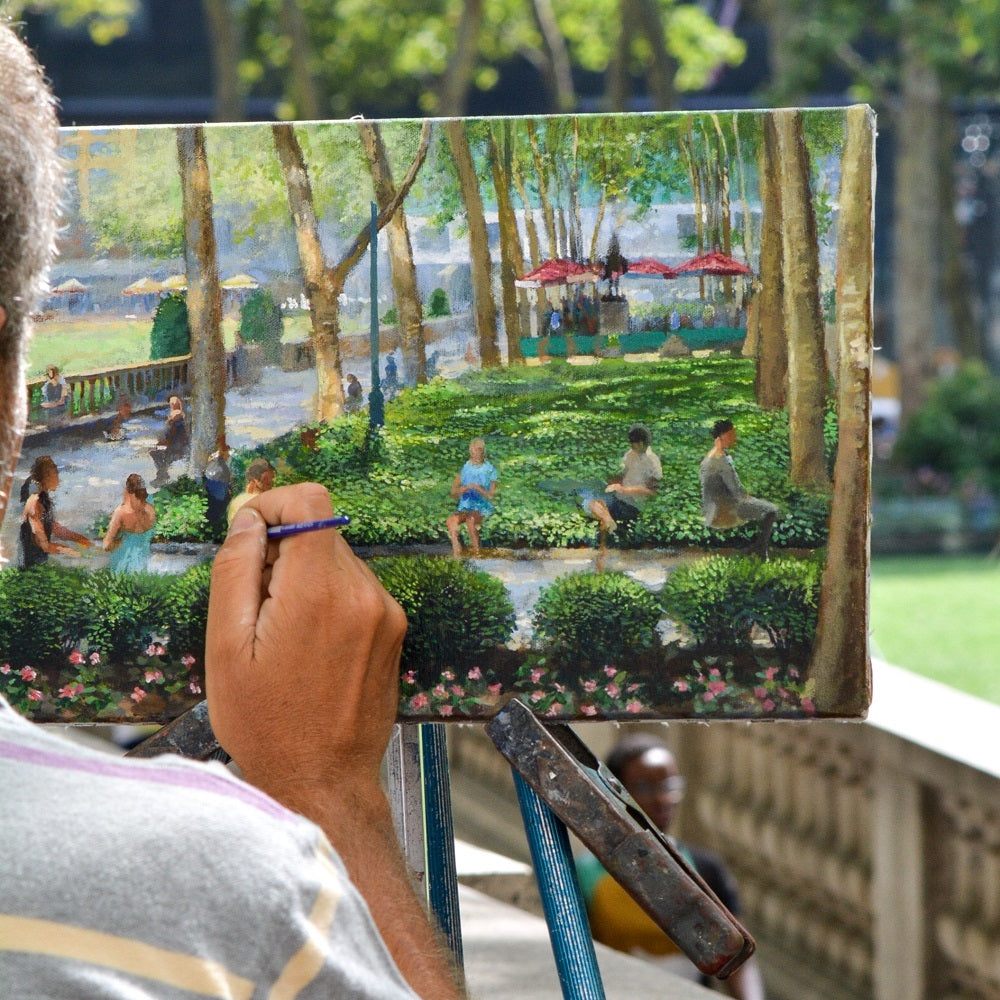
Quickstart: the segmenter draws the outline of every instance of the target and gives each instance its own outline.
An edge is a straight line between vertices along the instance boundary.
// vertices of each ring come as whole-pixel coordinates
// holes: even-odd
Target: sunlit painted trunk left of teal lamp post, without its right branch
[[[273,125],[288,208],[295,228],[302,278],[312,318],[312,343],[316,354],[316,418],[332,420],[344,412],[343,372],[340,368],[340,305],[337,296],[343,281],[334,279],[323,258],[319,222],[313,204],[309,172],[302,148],[291,125]]]

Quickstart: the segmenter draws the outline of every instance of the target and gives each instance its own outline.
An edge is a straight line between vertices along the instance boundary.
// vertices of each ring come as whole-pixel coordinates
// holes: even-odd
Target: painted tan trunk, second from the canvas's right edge
[[[774,119],[780,161],[784,304],[788,331],[789,476],[796,486],[822,489],[828,483],[823,454],[826,362],[809,151],[802,132],[801,112],[776,111]]]

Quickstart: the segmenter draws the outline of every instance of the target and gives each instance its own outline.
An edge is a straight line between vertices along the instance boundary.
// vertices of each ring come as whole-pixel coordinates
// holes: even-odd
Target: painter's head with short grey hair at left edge
[[[0,22],[0,518],[24,433],[31,311],[55,253],[58,121],[41,67]]]

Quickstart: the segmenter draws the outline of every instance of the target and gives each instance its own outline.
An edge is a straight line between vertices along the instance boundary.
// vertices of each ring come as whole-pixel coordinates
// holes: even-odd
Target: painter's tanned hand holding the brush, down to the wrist
[[[268,525],[332,514],[325,489],[256,495],[212,568],[206,646],[212,728],[246,778],[377,785],[396,717],[406,618],[339,532],[268,541]]]

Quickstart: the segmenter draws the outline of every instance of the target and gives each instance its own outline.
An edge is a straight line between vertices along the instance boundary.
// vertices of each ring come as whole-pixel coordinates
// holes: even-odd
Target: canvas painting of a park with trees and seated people
[[[873,137],[862,106],[65,130],[0,690],[175,717],[230,504],[316,480],[407,613],[403,719],[863,715]]]

